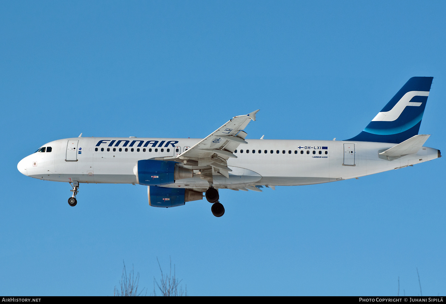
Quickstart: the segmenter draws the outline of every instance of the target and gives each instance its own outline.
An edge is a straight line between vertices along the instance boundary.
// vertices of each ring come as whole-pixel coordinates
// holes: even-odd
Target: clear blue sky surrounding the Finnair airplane
[[[0,294],[112,295],[122,261],[153,289],[169,256],[190,295],[446,292],[444,159],[312,186],[152,208],[140,185],[31,179],[52,140],[205,137],[258,108],[247,138],[351,138],[412,76],[445,150],[446,4],[21,1],[0,9]]]

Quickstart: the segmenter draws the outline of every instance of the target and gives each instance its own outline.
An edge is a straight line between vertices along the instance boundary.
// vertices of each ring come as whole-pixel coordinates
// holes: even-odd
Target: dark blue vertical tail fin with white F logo
[[[412,77],[358,135],[358,142],[399,144],[418,134],[433,77]]]

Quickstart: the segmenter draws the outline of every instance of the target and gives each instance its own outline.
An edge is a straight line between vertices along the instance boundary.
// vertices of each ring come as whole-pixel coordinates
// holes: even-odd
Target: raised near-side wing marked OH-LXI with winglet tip
[[[246,133],[243,132],[243,129],[248,125],[249,121],[256,120],[256,113],[259,111],[256,110],[247,115],[233,117],[202,141],[178,155],[177,158],[200,160],[202,158],[211,158],[214,154],[217,154],[225,160],[228,158],[237,158],[233,154],[234,150],[241,143],[247,143],[244,141]]]

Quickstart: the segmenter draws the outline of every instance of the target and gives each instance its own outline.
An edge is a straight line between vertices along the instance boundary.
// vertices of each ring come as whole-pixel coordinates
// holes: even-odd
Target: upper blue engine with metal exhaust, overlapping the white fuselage
[[[178,166],[178,162],[165,160],[143,159],[136,162],[133,168],[136,181],[140,185],[161,186],[174,183],[177,179],[187,179],[194,176],[194,171]]]

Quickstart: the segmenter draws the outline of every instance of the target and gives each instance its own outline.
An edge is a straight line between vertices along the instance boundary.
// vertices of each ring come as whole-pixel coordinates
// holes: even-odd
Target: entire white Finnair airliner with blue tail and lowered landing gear
[[[149,205],[193,200],[224,214],[218,189],[258,191],[358,178],[441,157],[417,135],[432,77],[413,77],[357,136],[343,141],[246,139],[254,111],[232,118],[204,139],[74,137],[49,142],[17,169],[43,180],[68,182],[77,204],[80,183],[146,185]]]

